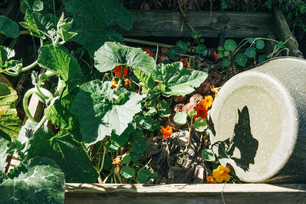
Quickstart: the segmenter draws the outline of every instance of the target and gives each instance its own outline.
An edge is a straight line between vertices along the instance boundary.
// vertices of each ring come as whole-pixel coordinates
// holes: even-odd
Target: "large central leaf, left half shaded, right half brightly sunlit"
[[[121,135],[141,110],[141,100],[139,94],[126,91],[113,102],[111,82],[94,80],[84,83],[70,112],[80,116],[80,130],[86,147],[110,135],[113,130]]]

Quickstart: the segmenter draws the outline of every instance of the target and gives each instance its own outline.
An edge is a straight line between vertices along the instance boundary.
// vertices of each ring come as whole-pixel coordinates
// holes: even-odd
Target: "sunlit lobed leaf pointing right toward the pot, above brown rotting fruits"
[[[206,72],[187,69],[181,62],[171,65],[161,63],[152,71],[153,80],[162,83],[154,87],[154,91],[159,91],[165,96],[185,96],[194,91],[193,87],[199,87],[206,77]]]

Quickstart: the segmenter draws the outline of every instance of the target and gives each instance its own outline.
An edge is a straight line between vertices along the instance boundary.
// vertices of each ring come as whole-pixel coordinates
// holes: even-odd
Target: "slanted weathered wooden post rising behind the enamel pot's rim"
[[[273,14],[272,15],[273,24],[274,24],[276,32],[279,36],[279,39],[281,41],[285,42],[287,39],[290,38],[290,36],[292,36],[290,28],[289,28],[288,24],[286,23],[285,16],[284,16],[282,10],[280,8],[278,8],[277,6],[274,6],[272,8],[272,14]],[[289,49],[289,56],[300,57],[299,55],[301,55],[301,53],[299,51],[299,47],[298,47],[297,42],[295,42],[293,40],[288,40],[285,43],[285,46]],[[300,53],[300,54],[297,54],[297,53]],[[301,56],[302,56],[301,58],[303,58],[303,55],[301,55]]]

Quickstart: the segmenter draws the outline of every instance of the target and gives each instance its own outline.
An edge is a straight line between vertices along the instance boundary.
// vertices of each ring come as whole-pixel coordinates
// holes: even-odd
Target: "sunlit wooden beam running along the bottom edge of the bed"
[[[64,203],[305,203],[306,184],[66,184]]]

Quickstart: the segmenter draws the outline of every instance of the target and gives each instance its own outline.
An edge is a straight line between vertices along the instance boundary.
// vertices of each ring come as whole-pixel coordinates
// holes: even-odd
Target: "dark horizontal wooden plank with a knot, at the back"
[[[132,29],[114,28],[123,36],[191,36],[191,29],[183,24],[179,11],[130,10],[134,17]],[[212,15],[211,15],[212,13]],[[188,11],[190,24],[203,37],[218,37],[225,28],[226,38],[267,37],[277,33],[272,14],[264,12]],[[287,23],[291,17],[286,18]]]

